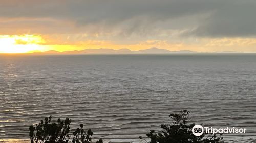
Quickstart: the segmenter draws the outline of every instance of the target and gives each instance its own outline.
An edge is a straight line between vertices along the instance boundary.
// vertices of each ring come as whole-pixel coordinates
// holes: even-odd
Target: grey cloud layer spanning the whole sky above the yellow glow
[[[46,33],[63,33],[66,29],[68,33],[97,32],[124,37],[154,37],[159,36],[158,33],[168,36],[173,31],[200,37],[254,36],[255,13],[254,0],[0,1],[0,17],[30,19],[9,21],[9,26],[2,20],[2,29],[18,29],[22,23],[22,28],[31,28],[32,32],[39,32],[38,26]],[[38,22],[38,18],[63,22],[59,26],[60,22]]]

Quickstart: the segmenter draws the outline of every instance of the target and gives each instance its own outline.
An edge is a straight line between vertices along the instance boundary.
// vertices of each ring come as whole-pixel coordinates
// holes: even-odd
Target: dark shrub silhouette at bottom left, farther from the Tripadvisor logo
[[[31,143],[68,143],[71,139],[72,143],[89,143],[92,142],[93,131],[89,129],[87,132],[83,129],[83,124],[77,128],[73,134],[70,133],[71,119],[57,120],[56,123],[50,123],[52,116],[46,117],[45,121],[41,120],[39,125],[29,126],[29,137]],[[36,131],[36,132],[35,132]],[[100,139],[96,143],[102,143]]]

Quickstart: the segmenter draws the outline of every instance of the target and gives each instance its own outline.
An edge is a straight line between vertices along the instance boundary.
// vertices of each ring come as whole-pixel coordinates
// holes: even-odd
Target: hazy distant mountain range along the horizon
[[[203,53],[203,52],[196,52],[196,51],[190,51],[190,50],[180,50],[180,51],[169,51],[167,49],[159,49],[156,47],[152,47],[150,49],[144,49],[144,50],[138,50],[138,51],[132,51],[130,49],[84,49],[84,50],[74,50],[74,51],[64,51],[59,52],[55,50],[45,51],[45,52],[33,52],[36,54],[88,54],[88,53]],[[224,51],[224,52],[213,52],[213,53],[239,53],[239,52],[232,52],[232,51]]]

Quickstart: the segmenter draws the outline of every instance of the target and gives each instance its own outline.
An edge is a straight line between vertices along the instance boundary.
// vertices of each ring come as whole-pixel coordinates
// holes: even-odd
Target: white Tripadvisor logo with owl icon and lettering
[[[192,128],[192,133],[195,136],[201,136],[203,133],[212,133],[212,134],[216,134],[216,133],[245,133],[246,128],[236,128],[236,127],[226,127],[226,128],[212,128],[212,127],[202,127],[201,125],[195,125]]]

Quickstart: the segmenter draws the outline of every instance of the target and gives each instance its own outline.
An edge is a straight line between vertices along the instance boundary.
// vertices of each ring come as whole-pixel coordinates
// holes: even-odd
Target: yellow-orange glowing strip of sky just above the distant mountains
[[[61,37],[61,36],[60,36]],[[255,52],[255,38],[204,38],[192,42],[146,40],[117,43],[105,40],[68,40],[47,35],[0,35],[0,53],[34,53],[55,50],[59,52],[84,49],[130,49],[133,51],[157,47],[170,51],[191,50],[198,52],[239,51]]]

